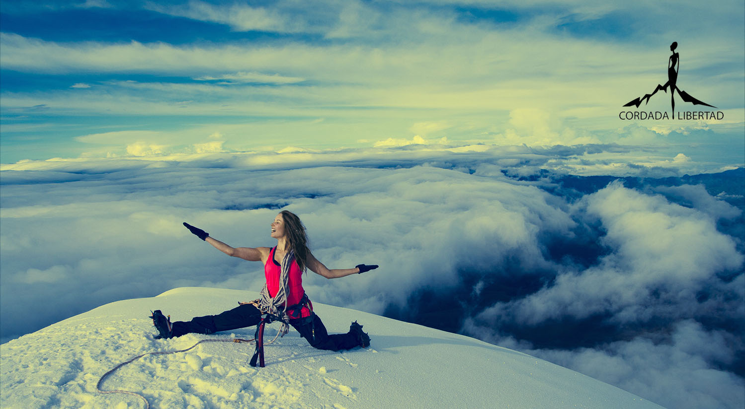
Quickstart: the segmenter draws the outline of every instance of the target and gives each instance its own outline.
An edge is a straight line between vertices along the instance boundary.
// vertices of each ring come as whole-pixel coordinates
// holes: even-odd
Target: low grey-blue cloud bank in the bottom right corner
[[[528,351],[527,349],[523,349]],[[530,350],[533,355],[625,390],[635,390],[665,408],[740,408],[743,379],[720,370],[732,362],[732,336],[681,321],[670,343],[647,338],[618,341],[602,349]]]

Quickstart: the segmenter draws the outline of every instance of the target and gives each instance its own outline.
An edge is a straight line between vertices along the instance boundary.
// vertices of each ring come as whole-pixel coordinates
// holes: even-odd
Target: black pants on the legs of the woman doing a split
[[[180,337],[191,332],[212,334],[212,332],[245,328],[254,326],[259,321],[261,321],[261,311],[252,304],[243,304],[218,315],[194,317],[191,321],[176,321],[171,324],[171,328],[173,336]],[[315,314],[312,320],[308,318],[290,320],[290,325],[311,344],[311,347],[319,350],[351,350],[358,346],[357,337],[349,332],[329,335],[326,332],[326,326],[323,326],[323,322]]]

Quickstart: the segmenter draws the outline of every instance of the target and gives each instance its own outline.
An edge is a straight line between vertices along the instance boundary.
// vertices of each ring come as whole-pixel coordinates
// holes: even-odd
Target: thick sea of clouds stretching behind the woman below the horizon
[[[539,170],[592,146],[495,149],[4,165],[2,336],[175,286],[258,289],[259,263],[225,257],[181,222],[272,245],[269,224],[288,208],[329,267],[381,265],[308,274],[314,300],[525,350],[669,407],[738,408],[741,171],[608,184]]]

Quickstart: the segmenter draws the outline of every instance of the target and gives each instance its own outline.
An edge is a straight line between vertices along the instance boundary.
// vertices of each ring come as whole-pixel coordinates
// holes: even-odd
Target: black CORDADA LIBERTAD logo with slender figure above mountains
[[[683,91],[682,89],[678,88],[677,81],[678,81],[678,69],[680,68],[680,54],[676,53],[675,49],[678,47],[678,42],[673,42],[673,44],[670,45],[670,51],[673,53],[668,58],[668,82],[665,83],[664,86],[657,84],[657,88],[652,91],[651,94],[644,94],[644,97],[637,97],[635,100],[630,101],[629,103],[625,104],[624,106],[635,106],[638,108],[641,105],[641,102],[644,101],[644,105],[649,103],[649,100],[651,97],[653,97],[654,94],[657,93],[657,91],[665,91],[665,93],[668,92],[668,89],[670,89],[670,103],[671,103],[671,117],[675,117],[675,92],[677,91],[680,99],[683,100],[683,102],[692,103],[694,105],[705,105],[705,106],[711,106],[711,108],[716,108],[716,106],[709,105],[708,103],[705,103],[701,100],[697,100],[694,97],[691,97],[691,94],[688,94],[688,92]],[[688,119],[688,120],[699,120],[699,119],[722,119],[724,117],[723,112],[685,112],[684,115],[680,115],[681,112],[678,112],[678,119]],[[621,119],[669,119],[668,112],[621,112],[618,114],[618,117]]]

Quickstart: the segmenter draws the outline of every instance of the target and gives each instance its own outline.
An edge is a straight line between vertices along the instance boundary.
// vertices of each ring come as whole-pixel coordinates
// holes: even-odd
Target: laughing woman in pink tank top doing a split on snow
[[[212,332],[254,326],[261,322],[261,315],[269,313],[282,318],[300,335],[308,340],[312,347],[319,350],[349,350],[354,347],[370,346],[370,337],[362,332],[362,326],[353,322],[346,334],[329,335],[318,315],[313,312],[313,305],[302,289],[302,271],[306,268],[326,278],[346,277],[378,268],[377,265],[360,264],[355,268],[329,269],[318,261],[308,249],[308,237],[305,226],[294,213],[282,210],[271,225],[271,237],[277,240],[273,248],[257,247],[232,248],[229,245],[209,236],[206,231],[184,223],[191,233],[205,240],[223,253],[248,261],[261,261],[264,264],[266,284],[261,290],[261,298],[250,303],[240,303],[234,309],[218,315],[205,315],[192,318],[191,321],[171,323],[160,310],[153,312],[153,324],[158,329],[157,338],[180,337],[195,332],[212,334]],[[287,332],[287,326],[282,326]],[[283,334],[284,335],[284,334]]]

